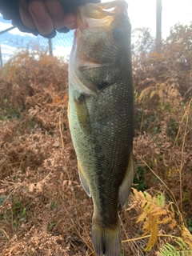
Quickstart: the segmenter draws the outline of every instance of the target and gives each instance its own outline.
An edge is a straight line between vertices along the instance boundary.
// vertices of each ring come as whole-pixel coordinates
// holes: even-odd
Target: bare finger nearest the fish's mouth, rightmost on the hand
[[[62,5],[58,0],[45,0],[46,10],[48,10],[50,17],[54,22],[54,27],[56,30],[68,26],[69,28],[74,27],[75,15],[65,14],[62,9]]]

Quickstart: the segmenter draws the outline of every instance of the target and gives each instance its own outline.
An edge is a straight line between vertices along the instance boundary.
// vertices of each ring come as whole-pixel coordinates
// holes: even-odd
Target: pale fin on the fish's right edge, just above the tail
[[[134,162],[133,162],[133,154],[131,152],[128,167],[126,169],[126,175],[118,191],[121,206],[125,205],[126,200],[129,197],[130,189],[133,183],[133,178],[134,178]]]

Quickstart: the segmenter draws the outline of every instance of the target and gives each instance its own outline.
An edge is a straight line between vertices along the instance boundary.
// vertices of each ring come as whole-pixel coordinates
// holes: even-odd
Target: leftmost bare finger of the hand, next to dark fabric
[[[26,0],[19,0],[18,1],[18,10],[19,14],[22,18],[22,23],[30,30],[34,30],[35,24],[34,20],[30,15],[30,12],[28,10],[28,2]]]

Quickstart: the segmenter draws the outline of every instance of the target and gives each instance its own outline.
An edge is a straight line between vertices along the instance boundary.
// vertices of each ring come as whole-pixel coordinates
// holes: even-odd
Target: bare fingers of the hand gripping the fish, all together
[[[75,15],[65,14],[58,0],[18,0],[18,9],[23,24],[39,34],[51,34],[54,29],[65,32],[75,28]]]

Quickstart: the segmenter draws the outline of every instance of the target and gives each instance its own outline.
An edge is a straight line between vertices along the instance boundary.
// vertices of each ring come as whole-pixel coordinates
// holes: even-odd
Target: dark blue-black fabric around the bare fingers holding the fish
[[[100,0],[59,0],[62,3],[63,9],[67,12],[71,12],[75,7],[86,4],[86,2],[101,2]],[[18,0],[0,0],[0,13],[6,20],[11,20],[14,26],[17,26],[18,29],[22,32],[32,33],[38,35],[38,30],[29,30],[26,26],[23,25],[22,19],[18,11]],[[66,33],[69,30],[65,27],[58,32]],[[55,30],[47,35],[43,35],[45,38],[54,38],[56,35]]]

